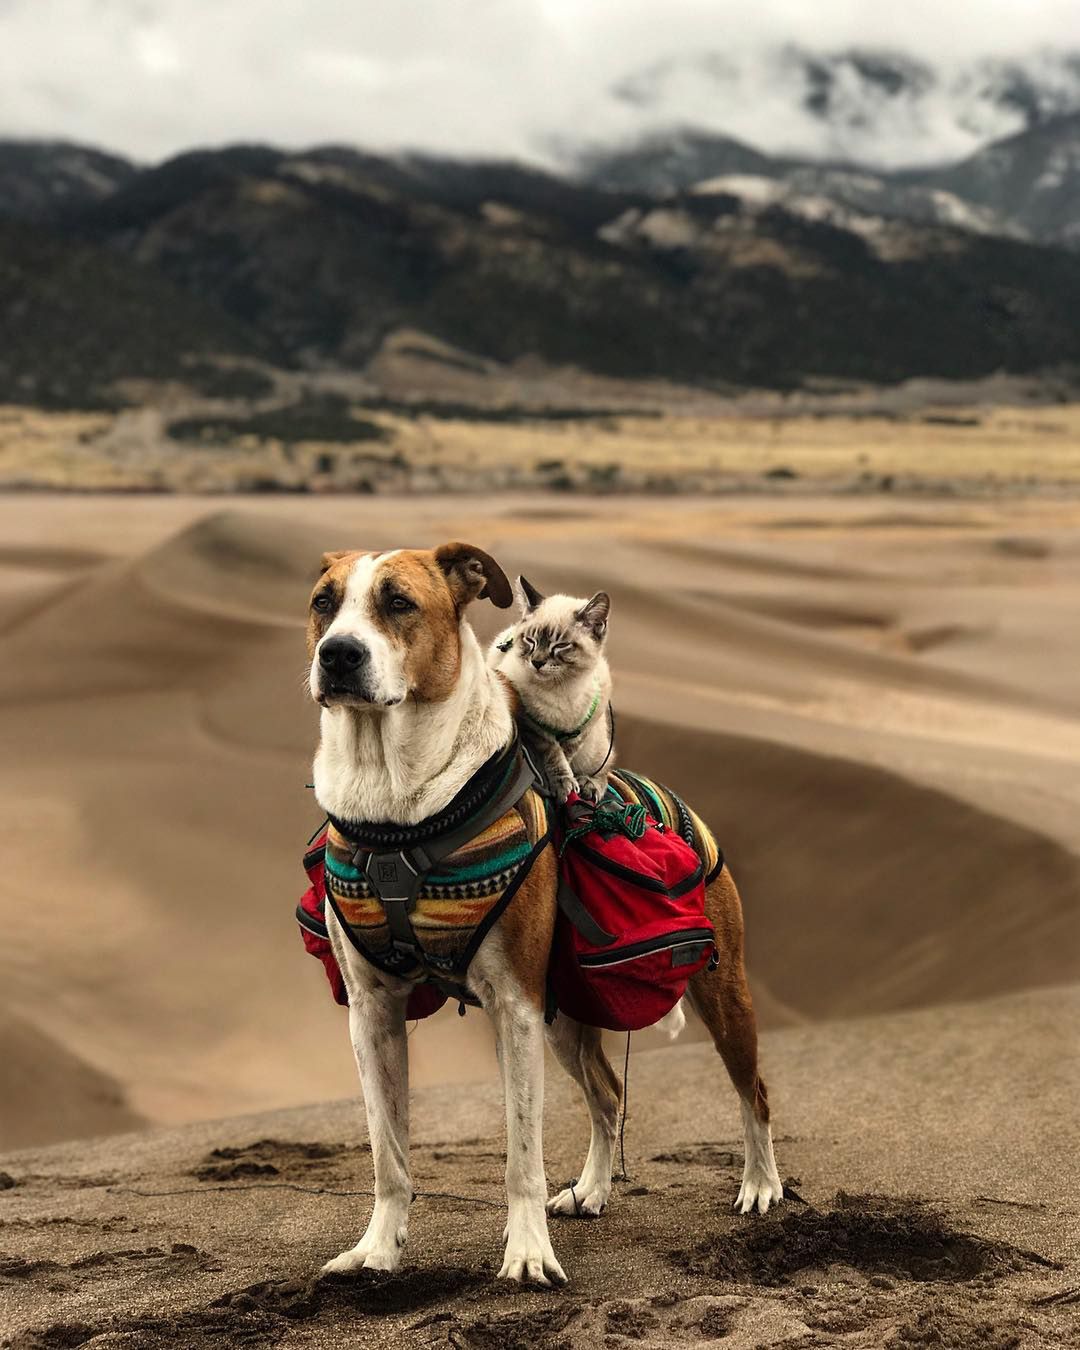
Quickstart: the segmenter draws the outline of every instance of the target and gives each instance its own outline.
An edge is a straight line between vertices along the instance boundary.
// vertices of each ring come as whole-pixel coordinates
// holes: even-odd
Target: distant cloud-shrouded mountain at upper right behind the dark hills
[[[1080,53],[937,70],[787,46],[663,62],[614,96],[645,130],[579,151],[595,186],[1080,247]]]

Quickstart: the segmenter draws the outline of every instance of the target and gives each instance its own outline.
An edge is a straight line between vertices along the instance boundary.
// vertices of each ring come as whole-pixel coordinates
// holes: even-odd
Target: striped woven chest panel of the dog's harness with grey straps
[[[416,826],[329,817],[327,900],[378,969],[475,1003],[468,964],[551,840],[537,775],[514,741]]]

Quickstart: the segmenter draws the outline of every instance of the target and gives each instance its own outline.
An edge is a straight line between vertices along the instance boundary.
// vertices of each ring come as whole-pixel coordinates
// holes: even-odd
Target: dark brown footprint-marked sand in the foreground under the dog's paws
[[[767,1033],[788,1199],[764,1219],[730,1211],[738,1112],[711,1050],[636,1056],[629,1179],[598,1220],[552,1223],[559,1292],[494,1280],[489,1084],[416,1094],[420,1195],[389,1277],[312,1282],[367,1216],[352,1103],[0,1157],[0,1345],[1065,1350],[1077,1013],[1058,990]],[[551,1075],[552,1181],[580,1165],[583,1116]]]

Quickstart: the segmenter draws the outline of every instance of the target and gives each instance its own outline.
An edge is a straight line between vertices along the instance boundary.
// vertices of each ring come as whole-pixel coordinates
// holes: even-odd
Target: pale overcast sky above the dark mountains
[[[791,40],[949,65],[1080,46],[1079,15],[1077,0],[0,0],[0,136],[142,159],[228,140],[536,158],[632,134],[645,115],[610,89],[668,57]],[[675,82],[664,112],[801,148],[783,90],[752,93],[716,107],[699,80]]]

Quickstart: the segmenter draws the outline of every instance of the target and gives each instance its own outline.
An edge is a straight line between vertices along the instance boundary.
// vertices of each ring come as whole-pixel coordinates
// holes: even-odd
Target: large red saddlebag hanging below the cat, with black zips
[[[702,857],[613,791],[595,806],[571,795],[559,846],[559,1010],[612,1031],[652,1026],[716,950]]]

